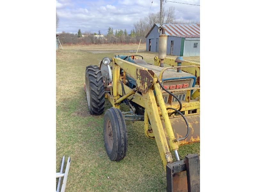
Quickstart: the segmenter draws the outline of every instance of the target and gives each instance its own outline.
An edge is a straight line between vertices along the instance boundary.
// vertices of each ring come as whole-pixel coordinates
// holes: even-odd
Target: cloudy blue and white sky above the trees
[[[172,0],[175,2],[197,4],[200,0]],[[144,18],[149,13],[152,0],[57,0],[56,10],[60,18],[57,32],[77,33],[84,31],[106,34],[109,27],[127,29],[133,28],[133,23]],[[200,6],[164,2],[165,8],[175,7],[176,19],[200,20]],[[160,10],[160,1],[153,0],[150,12]]]

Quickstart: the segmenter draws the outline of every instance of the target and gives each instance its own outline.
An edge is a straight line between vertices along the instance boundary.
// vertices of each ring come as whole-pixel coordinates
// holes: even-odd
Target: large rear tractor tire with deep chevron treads
[[[86,97],[89,111],[92,115],[104,112],[105,89],[100,67],[89,65],[85,70]]]

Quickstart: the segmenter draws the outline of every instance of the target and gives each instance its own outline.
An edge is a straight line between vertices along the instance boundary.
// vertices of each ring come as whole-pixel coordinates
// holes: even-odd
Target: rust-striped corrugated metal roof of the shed
[[[158,27],[159,23],[156,23]],[[154,25],[154,26],[155,26]],[[154,26],[152,28],[154,28]],[[168,36],[177,36],[177,37],[200,37],[200,24],[163,24],[165,28],[165,34]],[[149,30],[148,34],[152,30]],[[148,36],[147,34],[147,36]],[[146,37],[147,37],[146,36]]]

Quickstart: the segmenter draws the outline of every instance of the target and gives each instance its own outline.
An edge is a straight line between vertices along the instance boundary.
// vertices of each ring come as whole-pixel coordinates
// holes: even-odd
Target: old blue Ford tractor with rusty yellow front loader
[[[104,112],[105,98],[112,104],[103,124],[105,148],[112,161],[126,155],[125,121],[143,121],[144,133],[156,140],[166,169],[167,191],[196,192],[200,190],[199,155],[188,154],[180,160],[178,150],[180,145],[200,141],[200,82],[193,72],[183,70],[200,67],[182,65],[183,58],[177,57],[176,66],[164,68],[167,36],[161,29],[155,65],[140,55],[105,57],[100,67],[86,67],[84,90],[91,114]],[[122,103],[129,112],[120,110]]]

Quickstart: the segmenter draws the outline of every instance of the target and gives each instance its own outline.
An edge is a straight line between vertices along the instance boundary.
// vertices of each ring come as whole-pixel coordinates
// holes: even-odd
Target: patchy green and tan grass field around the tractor
[[[132,55],[138,45],[67,46],[56,52],[56,172],[62,156],[71,157],[67,192],[81,191],[166,191],[166,176],[155,140],[146,138],[143,122],[126,122],[128,151],[120,162],[109,160],[103,140],[103,118],[90,115],[84,92],[85,67],[99,65],[103,57]],[[153,63],[157,53],[139,55]],[[120,50],[120,51],[118,51]],[[200,62],[199,57],[186,58]],[[106,100],[105,110],[111,105]],[[121,110],[127,110],[121,104]],[[180,147],[199,153],[200,143]]]

